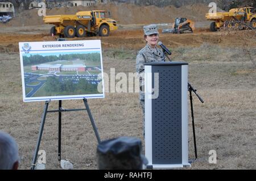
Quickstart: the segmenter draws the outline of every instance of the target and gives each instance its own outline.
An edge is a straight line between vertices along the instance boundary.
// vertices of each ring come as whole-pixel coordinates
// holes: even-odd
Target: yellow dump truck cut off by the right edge
[[[210,24],[210,31],[217,31],[221,27],[237,28],[238,30],[256,29],[256,11],[253,7],[230,9],[229,12],[208,13],[207,20],[214,21]]]

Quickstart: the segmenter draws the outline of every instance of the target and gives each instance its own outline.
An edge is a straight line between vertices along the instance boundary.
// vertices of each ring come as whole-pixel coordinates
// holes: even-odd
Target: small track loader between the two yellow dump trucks
[[[172,29],[164,29],[162,33],[193,33],[195,23],[187,18],[175,18]]]

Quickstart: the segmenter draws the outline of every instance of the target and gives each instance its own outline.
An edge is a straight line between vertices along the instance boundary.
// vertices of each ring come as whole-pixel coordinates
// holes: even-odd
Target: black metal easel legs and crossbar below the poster
[[[89,115],[89,118],[90,118],[90,123],[92,123],[92,127],[93,127],[94,133],[96,135],[98,144],[100,144],[100,142],[101,142],[100,135],[98,134],[96,124],[95,124],[94,119],[92,117],[92,113],[90,112],[90,108],[89,108],[89,105],[87,103],[87,99],[84,98],[82,100],[84,101],[85,109],[83,108],[83,109],[64,110],[61,106],[62,102],[61,102],[61,100],[59,100],[59,109],[58,110],[50,110],[50,111],[48,111],[48,106],[49,106],[49,102],[51,102],[51,100],[46,101],[46,104],[44,104],[44,111],[43,111],[41,124],[40,124],[40,128],[39,128],[38,141],[36,142],[36,148],[35,148],[35,153],[34,153],[34,157],[33,157],[33,161],[32,161],[31,170],[34,170],[35,166],[36,166],[36,160],[38,158],[38,151],[39,151],[39,146],[40,146],[40,142],[41,142],[41,138],[42,138],[42,134],[43,134],[44,123],[46,121],[46,115],[47,115],[48,112],[59,112],[59,141],[58,141],[58,160],[59,161],[61,159],[61,112],[87,111],[87,113]]]

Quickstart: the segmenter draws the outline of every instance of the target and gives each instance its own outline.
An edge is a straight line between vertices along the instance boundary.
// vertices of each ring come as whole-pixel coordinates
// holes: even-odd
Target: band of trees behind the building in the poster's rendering
[[[84,53],[84,54],[60,54],[59,56],[42,56],[40,54],[30,55],[29,57],[23,56],[23,65],[35,65],[44,64],[47,62],[53,62],[57,60],[87,60],[93,62],[100,62],[100,53]]]

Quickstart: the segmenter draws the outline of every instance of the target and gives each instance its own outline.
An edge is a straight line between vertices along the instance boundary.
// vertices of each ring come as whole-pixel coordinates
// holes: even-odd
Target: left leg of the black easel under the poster
[[[41,124],[40,124],[40,128],[39,128],[39,133],[38,133],[38,141],[36,142],[36,149],[35,149],[35,153],[34,153],[34,157],[33,157],[31,170],[35,169],[36,159],[38,158],[38,151],[39,151],[39,146],[40,146],[40,142],[41,142],[41,138],[42,138],[42,134],[43,134],[44,123],[46,121],[46,113],[48,110],[48,106],[49,106],[49,101],[46,101],[46,104],[44,104],[44,112],[43,112],[42,119],[41,119]]]

